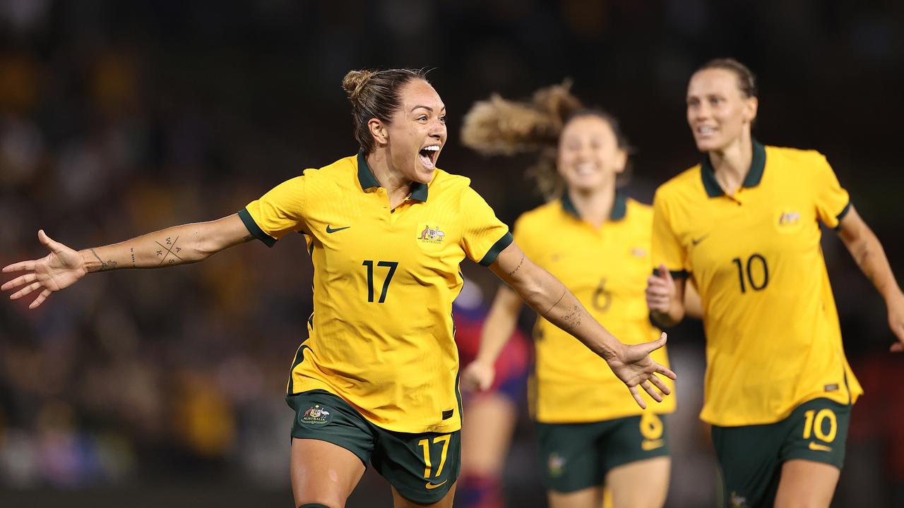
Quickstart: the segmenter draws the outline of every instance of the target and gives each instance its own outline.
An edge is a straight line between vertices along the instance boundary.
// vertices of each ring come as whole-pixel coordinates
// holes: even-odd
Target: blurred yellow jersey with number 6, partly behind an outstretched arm
[[[596,228],[582,221],[568,194],[524,213],[514,238],[528,258],[578,297],[590,315],[623,343],[659,338],[649,320],[644,291],[650,273],[653,211],[617,193],[607,221]],[[606,361],[578,339],[539,317],[534,329],[536,368],[531,382],[532,413],[543,423],[579,423],[640,414],[642,409]],[[665,349],[653,359],[668,365]],[[674,388],[673,381],[663,378]],[[656,412],[671,412],[646,397]]]

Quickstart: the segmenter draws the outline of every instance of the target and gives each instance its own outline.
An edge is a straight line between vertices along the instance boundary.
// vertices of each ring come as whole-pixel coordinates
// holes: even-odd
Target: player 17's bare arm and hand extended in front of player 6
[[[665,383],[654,374],[659,373],[675,379],[674,372],[650,358],[650,353],[665,345],[665,334],[659,340],[650,343],[630,346],[620,343],[589,315],[578,298],[572,295],[559,279],[552,277],[549,272],[527,259],[514,243],[499,253],[499,257],[490,268],[537,314],[573,335],[590,351],[606,360],[609,368],[627,385],[641,408],[646,408],[646,404],[640,397],[638,386],[646,390],[656,401],[663,400],[659,391],[666,395],[670,393]],[[655,390],[653,385],[659,391]]]

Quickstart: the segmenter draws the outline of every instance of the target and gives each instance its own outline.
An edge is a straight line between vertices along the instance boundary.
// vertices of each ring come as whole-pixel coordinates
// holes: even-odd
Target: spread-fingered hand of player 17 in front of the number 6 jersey
[[[616,357],[608,360],[609,368],[615,372],[618,379],[626,384],[631,396],[634,397],[641,409],[646,409],[646,403],[640,397],[638,386],[649,393],[653,400],[662,402],[663,395],[669,395],[672,390],[669,390],[669,387],[663,380],[656,377],[656,374],[662,374],[672,380],[678,379],[674,372],[650,358],[650,353],[665,345],[665,338],[666,335],[663,332],[659,339],[653,342],[626,345]]]

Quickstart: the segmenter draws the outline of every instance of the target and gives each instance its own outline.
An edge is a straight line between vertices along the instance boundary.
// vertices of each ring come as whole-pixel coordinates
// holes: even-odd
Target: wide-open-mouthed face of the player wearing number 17
[[[446,106],[427,81],[411,80],[400,89],[400,106],[383,124],[393,171],[411,182],[429,183],[446,144]]]

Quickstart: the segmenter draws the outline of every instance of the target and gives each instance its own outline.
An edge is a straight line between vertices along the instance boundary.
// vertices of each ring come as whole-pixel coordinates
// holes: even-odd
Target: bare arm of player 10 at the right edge
[[[889,309],[889,327],[898,338],[898,342],[891,345],[891,351],[904,352],[904,294],[891,273],[882,244],[853,206],[839,223],[838,233],[857,266],[885,298],[885,306]]]

